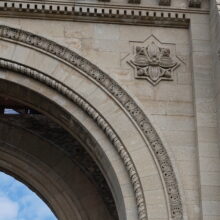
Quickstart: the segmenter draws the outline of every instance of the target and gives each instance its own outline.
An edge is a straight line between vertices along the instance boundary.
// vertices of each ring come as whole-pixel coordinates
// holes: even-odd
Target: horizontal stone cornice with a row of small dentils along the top
[[[131,7],[105,3],[0,1],[0,16],[2,17],[188,28],[189,13],[207,13],[207,11],[167,7]]]

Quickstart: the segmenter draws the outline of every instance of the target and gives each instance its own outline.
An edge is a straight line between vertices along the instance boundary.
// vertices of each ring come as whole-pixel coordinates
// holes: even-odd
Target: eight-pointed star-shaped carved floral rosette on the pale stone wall
[[[173,80],[173,72],[180,63],[169,47],[159,44],[162,45],[156,38],[151,37],[134,46],[133,57],[128,63],[134,68],[136,79],[146,79],[152,85],[161,80]]]

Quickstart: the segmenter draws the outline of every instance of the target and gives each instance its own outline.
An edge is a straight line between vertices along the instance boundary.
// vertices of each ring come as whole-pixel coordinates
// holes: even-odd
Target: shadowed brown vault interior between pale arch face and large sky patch
[[[102,160],[105,160],[105,166],[109,168],[107,172],[104,171],[106,167],[102,167],[98,158],[104,157],[104,154],[97,148],[96,155],[94,155],[94,149],[91,150],[91,145],[96,148],[97,146],[95,145],[97,145],[97,143],[92,136],[89,137],[89,132],[87,132],[87,138],[85,138],[86,129],[72,117],[72,128],[66,126],[63,122],[66,122],[67,118],[70,119],[68,113],[61,107],[56,106],[55,103],[52,103],[50,100],[46,100],[45,97],[36,94],[30,89],[22,88],[19,85],[5,80],[1,80],[0,84],[1,103],[4,103],[4,105],[1,106],[2,110],[0,117],[2,131],[0,132],[0,151],[3,154],[6,153],[9,155],[8,161],[5,161],[5,159],[1,161],[2,158],[0,158],[2,162],[0,163],[1,170],[15,173],[18,179],[21,179],[25,183],[27,182],[27,184],[33,188],[33,191],[39,192],[38,194],[42,195],[41,197],[44,198],[51,209],[54,210],[54,213],[60,220],[125,219],[125,217],[122,217],[123,215],[125,216],[123,213],[123,202],[120,199],[120,193],[118,193],[120,187],[117,188],[117,193],[112,193],[114,186],[109,177],[103,175],[103,173],[113,174],[114,171],[110,171],[111,165],[107,159],[102,158]],[[39,105],[39,103],[41,104]],[[8,111],[10,114],[7,114]],[[61,118],[64,118],[63,122],[59,121],[60,115],[63,116]],[[72,130],[71,133],[70,130]],[[19,137],[19,134],[22,135]],[[12,140],[11,137],[13,135],[17,135],[17,137],[13,137]],[[39,145],[32,145],[34,138],[43,141],[42,149],[39,148]],[[90,145],[90,147],[88,147],[88,145]],[[48,149],[45,148],[46,146]],[[56,152],[59,151],[59,155],[58,153],[52,154],[54,149],[56,149]],[[33,172],[30,171],[24,174],[27,170],[17,170],[16,164],[14,164],[15,167],[13,167],[9,162],[12,160],[10,158],[12,156],[11,154],[14,154],[13,156],[16,159],[21,160],[17,163],[24,163],[24,166],[26,166],[28,170],[33,169]],[[46,156],[46,154],[49,156]],[[55,157],[54,161],[52,161],[52,157]],[[27,158],[29,158],[28,164],[26,161]],[[42,163],[42,167],[39,165],[39,162]],[[6,163],[9,164],[5,166]],[[38,164],[37,168],[35,167],[36,164]],[[34,170],[35,168],[39,169],[39,167],[40,171]],[[39,172],[41,172],[42,169],[44,169],[45,175],[44,177],[38,178],[37,176],[40,175]],[[50,173],[49,177],[48,170]],[[37,175],[35,175],[35,172]],[[73,183],[72,180],[77,179],[78,176],[77,178],[76,176],[70,176],[71,172],[72,174],[75,172],[75,175],[79,175],[80,179],[74,182],[74,189],[70,189],[69,185],[71,185],[71,183]],[[34,173],[33,176],[32,173]],[[113,174],[112,180],[114,178]],[[44,180],[42,181],[42,179]],[[85,182],[83,183],[83,180],[86,181],[86,184]],[[117,180],[115,180],[114,184],[117,184]],[[44,181],[52,181],[53,183],[57,181],[54,187],[55,189],[51,191],[67,191],[69,194],[67,196],[68,198],[64,198],[66,195],[59,195],[59,197],[61,197],[61,201],[62,199],[65,200],[64,204],[71,203],[69,208],[64,207],[64,205],[63,207],[58,207],[63,201],[58,202],[58,204],[56,201],[57,198],[48,199],[53,192],[45,192],[48,191],[48,188],[47,186],[44,188]],[[65,185],[65,189],[60,188],[60,185],[62,185],[61,182],[63,184],[62,187]],[[88,189],[86,189],[86,187]],[[41,193],[41,191],[43,191],[43,193]],[[78,192],[78,195],[76,195],[76,192]],[[81,196],[81,194],[84,195]],[[81,197],[85,198],[82,199]],[[74,214],[73,212],[66,214],[66,210],[68,212],[68,210],[72,209],[72,201],[74,201]],[[120,205],[118,205],[119,203]],[[90,211],[83,214],[83,212],[85,212],[85,207]],[[118,210],[121,213],[119,216]],[[73,215],[75,216],[74,218]]]

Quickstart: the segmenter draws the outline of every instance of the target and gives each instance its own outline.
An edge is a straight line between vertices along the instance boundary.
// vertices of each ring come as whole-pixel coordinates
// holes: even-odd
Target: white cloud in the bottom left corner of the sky
[[[0,220],[16,220],[18,210],[18,203],[8,197],[0,197]]]

